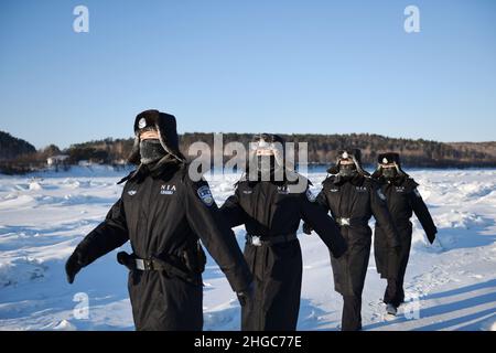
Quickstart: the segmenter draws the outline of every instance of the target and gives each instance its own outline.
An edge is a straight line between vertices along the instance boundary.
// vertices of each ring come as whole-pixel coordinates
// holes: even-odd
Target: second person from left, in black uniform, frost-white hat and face
[[[249,331],[294,331],[300,310],[302,255],[296,231],[311,224],[334,257],[346,243],[335,222],[314,203],[308,180],[285,165],[284,141],[257,135],[249,165],[220,212],[229,226],[245,225],[245,257],[254,274],[255,295],[241,309],[241,328]],[[254,172],[255,171],[255,172]]]

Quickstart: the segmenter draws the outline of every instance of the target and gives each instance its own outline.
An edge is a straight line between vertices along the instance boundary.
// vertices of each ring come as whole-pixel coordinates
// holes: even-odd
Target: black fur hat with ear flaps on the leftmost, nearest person
[[[140,163],[140,132],[150,129],[154,129],[159,132],[160,145],[162,145],[163,149],[169,154],[181,162],[186,160],[179,149],[175,117],[173,115],[152,109],[138,114],[134,119],[134,145],[128,158],[130,163]]]

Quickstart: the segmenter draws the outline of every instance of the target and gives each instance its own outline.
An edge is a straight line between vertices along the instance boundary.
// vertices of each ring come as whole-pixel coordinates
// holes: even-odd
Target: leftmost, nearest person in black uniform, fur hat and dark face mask
[[[121,180],[121,197],[106,220],[66,263],[67,280],[100,256],[131,242],[132,255],[118,254],[130,269],[129,296],[137,330],[202,330],[202,271],[198,238],[227,276],[241,304],[252,276],[233,231],[204,180],[193,181],[179,150],[175,118],[158,110],[134,121],[130,161],[138,169]]]

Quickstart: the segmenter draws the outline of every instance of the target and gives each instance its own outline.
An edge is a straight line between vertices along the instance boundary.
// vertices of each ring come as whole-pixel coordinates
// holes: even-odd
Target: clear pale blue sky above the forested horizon
[[[67,147],[148,108],[180,132],[496,140],[496,2],[0,2],[0,130]]]

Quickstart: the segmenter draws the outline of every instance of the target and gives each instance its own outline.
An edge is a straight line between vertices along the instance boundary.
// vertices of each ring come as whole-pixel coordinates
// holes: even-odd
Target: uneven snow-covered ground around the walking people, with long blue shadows
[[[133,329],[127,272],[115,252],[83,269],[72,286],[64,274],[76,244],[119,197],[122,186],[116,182],[123,174],[79,168],[39,178],[0,175],[0,329]],[[413,218],[409,302],[395,320],[384,317],[385,281],[370,257],[364,329],[496,330],[496,170],[411,174],[440,229],[439,242],[430,246]],[[310,175],[315,192],[324,176]],[[218,204],[233,192],[236,179],[211,179]],[[242,245],[245,231],[235,232]],[[299,329],[336,330],[342,300],[333,289],[327,252],[316,235],[299,237],[304,261]],[[212,259],[204,281],[205,330],[238,330],[239,306]]]

